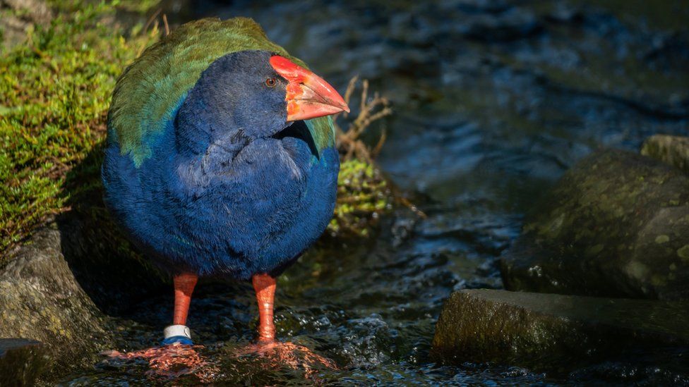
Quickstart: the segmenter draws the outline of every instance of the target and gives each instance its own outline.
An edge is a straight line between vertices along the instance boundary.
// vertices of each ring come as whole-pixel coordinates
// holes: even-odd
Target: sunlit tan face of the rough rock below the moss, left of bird
[[[56,367],[110,342],[107,319],[74,278],[56,227],[44,228],[0,271],[0,337],[39,340]],[[86,363],[84,363],[86,364]]]

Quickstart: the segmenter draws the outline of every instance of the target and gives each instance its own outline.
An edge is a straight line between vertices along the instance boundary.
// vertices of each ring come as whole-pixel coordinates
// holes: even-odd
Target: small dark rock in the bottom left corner
[[[46,368],[44,352],[35,340],[0,338],[0,386],[33,386]]]

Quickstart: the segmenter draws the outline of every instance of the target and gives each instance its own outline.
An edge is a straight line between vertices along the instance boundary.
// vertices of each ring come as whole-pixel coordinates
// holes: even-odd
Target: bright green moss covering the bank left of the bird
[[[104,139],[116,77],[157,36],[125,39],[126,30],[103,21],[113,4],[52,5],[60,11],[52,23],[0,55],[0,250],[100,184],[89,173],[66,190],[66,174]],[[97,170],[100,158],[90,163],[80,171]]]

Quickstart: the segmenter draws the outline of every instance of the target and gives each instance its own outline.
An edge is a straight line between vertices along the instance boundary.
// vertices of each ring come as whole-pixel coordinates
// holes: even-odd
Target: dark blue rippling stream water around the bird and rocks
[[[599,147],[638,149],[689,132],[686,1],[168,1],[172,23],[250,16],[344,90],[352,75],[395,114],[379,163],[419,193],[428,219],[390,216],[368,245],[316,249],[280,278],[278,336],[331,357],[332,384],[670,383],[664,364],[606,362],[565,376],[494,364],[433,364],[433,326],[461,288],[500,288],[496,259],[563,171]],[[193,10],[192,8],[195,8]],[[121,350],[160,340],[169,295],[133,307]],[[217,383],[312,382],[268,371],[234,348],[253,338],[248,284],[207,284],[193,301],[196,342]],[[143,364],[97,364],[65,384],[149,383]],[[192,376],[176,383],[195,383]]]

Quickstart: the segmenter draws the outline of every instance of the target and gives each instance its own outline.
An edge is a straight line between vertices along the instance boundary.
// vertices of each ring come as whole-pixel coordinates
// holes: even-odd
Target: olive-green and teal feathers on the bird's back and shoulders
[[[270,42],[251,19],[206,18],[187,23],[148,47],[117,80],[108,112],[108,136],[137,166],[150,156],[150,142],[174,119],[179,104],[203,70],[236,51],[265,50],[300,66],[305,63]],[[332,118],[306,121],[319,151],[335,144]]]

